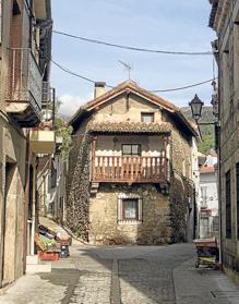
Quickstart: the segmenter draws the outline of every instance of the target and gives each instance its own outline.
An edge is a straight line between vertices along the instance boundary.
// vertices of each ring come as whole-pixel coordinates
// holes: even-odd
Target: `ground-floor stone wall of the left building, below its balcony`
[[[5,123],[3,131],[2,277],[4,282],[9,282],[20,278],[24,271],[26,139],[10,123]]]

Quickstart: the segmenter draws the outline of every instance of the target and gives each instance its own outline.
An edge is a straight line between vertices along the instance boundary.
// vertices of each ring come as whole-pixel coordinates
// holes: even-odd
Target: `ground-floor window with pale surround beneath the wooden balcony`
[[[142,198],[134,194],[118,197],[118,223],[142,222]]]

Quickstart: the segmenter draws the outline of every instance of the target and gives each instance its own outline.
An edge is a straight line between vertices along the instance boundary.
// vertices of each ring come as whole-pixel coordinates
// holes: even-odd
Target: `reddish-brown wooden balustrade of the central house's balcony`
[[[166,182],[168,175],[165,157],[95,156],[93,182]]]

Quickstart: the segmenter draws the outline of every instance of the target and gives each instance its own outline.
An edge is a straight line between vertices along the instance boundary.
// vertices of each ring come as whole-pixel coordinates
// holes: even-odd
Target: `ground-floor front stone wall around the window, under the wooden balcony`
[[[142,223],[118,222],[120,194],[142,198]],[[104,244],[163,244],[171,242],[168,195],[151,184],[100,184],[89,200],[89,242]]]

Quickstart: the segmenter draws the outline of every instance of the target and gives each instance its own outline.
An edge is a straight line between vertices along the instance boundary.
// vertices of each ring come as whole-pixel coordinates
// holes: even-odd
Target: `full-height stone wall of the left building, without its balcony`
[[[0,46],[0,288],[21,277],[24,271],[26,145],[22,130],[9,121],[5,114],[12,1],[1,1],[1,5],[3,26]],[[20,32],[21,28],[14,35]]]

